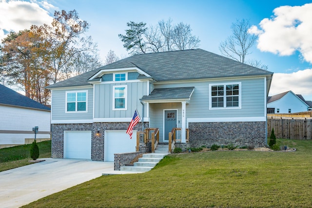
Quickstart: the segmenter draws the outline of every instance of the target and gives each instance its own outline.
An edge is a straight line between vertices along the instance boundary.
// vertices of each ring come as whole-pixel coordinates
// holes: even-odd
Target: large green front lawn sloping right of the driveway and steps
[[[171,154],[142,174],[102,176],[25,207],[312,207],[312,141],[295,152]]]

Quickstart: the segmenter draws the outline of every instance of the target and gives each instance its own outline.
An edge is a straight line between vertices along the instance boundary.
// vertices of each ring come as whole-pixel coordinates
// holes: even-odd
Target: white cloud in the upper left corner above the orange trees
[[[52,8],[51,4],[43,1],[45,8]],[[18,32],[29,29],[31,25],[50,24],[52,17],[36,2],[22,0],[0,0],[0,39],[8,32]]]

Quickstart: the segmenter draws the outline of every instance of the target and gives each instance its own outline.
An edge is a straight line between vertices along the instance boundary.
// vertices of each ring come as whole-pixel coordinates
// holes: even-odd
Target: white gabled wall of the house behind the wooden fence
[[[268,103],[268,108],[275,108],[275,113],[279,109],[279,113],[288,113],[288,109],[291,109],[291,113],[308,111],[308,106],[296,95],[289,92],[281,99]]]

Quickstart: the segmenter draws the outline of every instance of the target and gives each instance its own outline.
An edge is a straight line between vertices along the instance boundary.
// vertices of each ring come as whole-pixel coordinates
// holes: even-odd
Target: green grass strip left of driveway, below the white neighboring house
[[[39,158],[51,157],[51,140],[37,144]],[[0,149],[0,171],[29,165],[28,160],[32,160],[30,158],[30,148],[31,144]]]

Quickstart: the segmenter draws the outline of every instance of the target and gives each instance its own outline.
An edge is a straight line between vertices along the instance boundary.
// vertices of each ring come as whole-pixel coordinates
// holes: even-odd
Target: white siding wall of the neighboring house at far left
[[[39,127],[37,138],[50,138],[49,111],[0,105],[0,114],[0,145],[25,144],[25,138],[35,138],[35,126]]]

